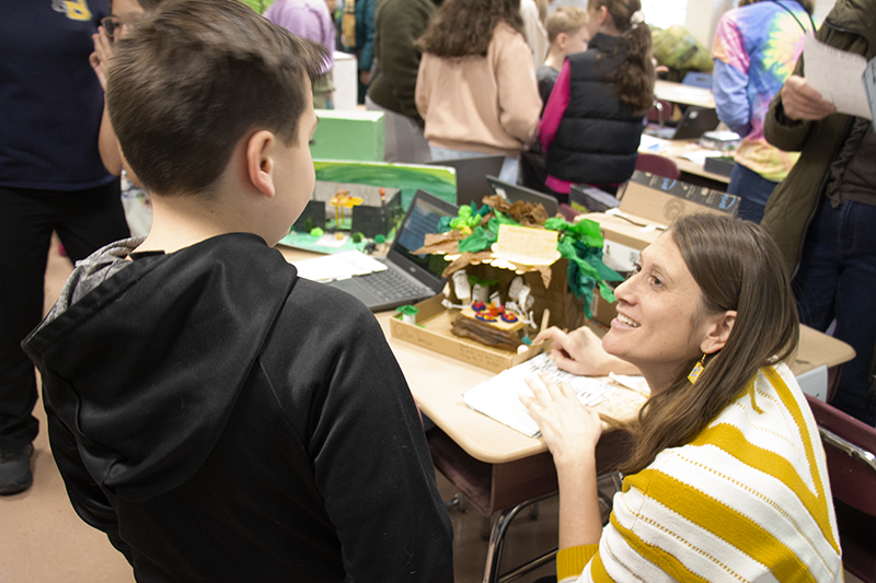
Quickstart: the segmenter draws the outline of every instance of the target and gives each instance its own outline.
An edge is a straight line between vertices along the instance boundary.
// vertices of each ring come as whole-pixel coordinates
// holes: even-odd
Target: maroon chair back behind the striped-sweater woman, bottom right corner
[[[837,510],[842,561],[867,583],[876,582],[876,428],[835,407],[806,396],[828,464]]]

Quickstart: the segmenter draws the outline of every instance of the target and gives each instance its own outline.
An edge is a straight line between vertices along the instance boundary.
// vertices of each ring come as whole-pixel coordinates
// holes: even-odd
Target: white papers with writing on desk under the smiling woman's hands
[[[520,403],[518,395],[532,396],[526,378],[539,373],[549,376],[557,384],[572,385],[580,401],[587,406],[598,404],[614,392],[614,387],[603,381],[561,371],[548,354],[542,353],[463,393],[462,401],[475,411],[492,417],[525,435],[535,438],[541,433],[539,425]]]

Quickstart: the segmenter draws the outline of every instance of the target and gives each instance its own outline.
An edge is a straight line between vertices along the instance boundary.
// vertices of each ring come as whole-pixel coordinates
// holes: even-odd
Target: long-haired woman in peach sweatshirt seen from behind
[[[419,38],[416,105],[433,160],[504,154],[517,184],[541,97],[520,0],[447,0]]]

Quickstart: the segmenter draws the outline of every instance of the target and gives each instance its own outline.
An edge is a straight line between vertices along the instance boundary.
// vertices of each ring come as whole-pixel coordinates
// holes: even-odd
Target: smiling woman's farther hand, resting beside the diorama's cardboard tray
[[[638,374],[629,362],[612,357],[602,348],[602,340],[587,326],[568,334],[555,326],[539,333],[533,343],[553,340],[551,358],[556,365],[580,376],[607,376],[616,374]]]

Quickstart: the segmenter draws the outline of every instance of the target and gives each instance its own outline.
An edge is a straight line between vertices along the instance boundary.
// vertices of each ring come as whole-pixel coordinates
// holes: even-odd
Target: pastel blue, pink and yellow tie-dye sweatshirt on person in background
[[[718,118],[744,137],[736,162],[768,180],[784,179],[798,158],[766,143],[763,119],[803,53],[804,30],[812,22],[799,3],[773,0],[727,11],[715,32]]]

